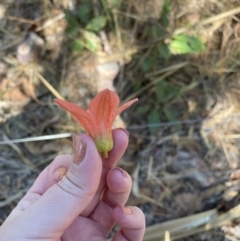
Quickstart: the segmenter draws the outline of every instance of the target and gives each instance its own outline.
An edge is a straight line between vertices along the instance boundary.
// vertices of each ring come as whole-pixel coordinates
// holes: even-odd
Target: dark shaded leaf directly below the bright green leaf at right
[[[179,94],[179,88],[162,80],[156,84],[157,98],[160,102],[166,102]]]

